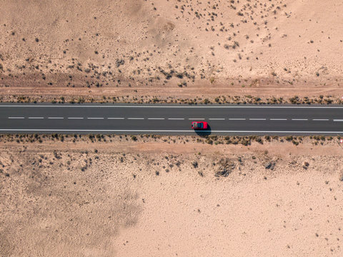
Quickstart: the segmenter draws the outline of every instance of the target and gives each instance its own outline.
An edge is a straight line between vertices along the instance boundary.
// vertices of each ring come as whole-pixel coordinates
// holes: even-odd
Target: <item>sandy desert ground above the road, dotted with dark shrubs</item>
[[[319,0],[2,0],[0,96],[341,96],[342,11]]]

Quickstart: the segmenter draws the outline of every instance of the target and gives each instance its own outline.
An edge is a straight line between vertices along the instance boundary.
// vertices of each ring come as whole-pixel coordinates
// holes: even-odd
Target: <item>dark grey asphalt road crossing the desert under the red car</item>
[[[343,106],[1,104],[0,133],[343,135]]]

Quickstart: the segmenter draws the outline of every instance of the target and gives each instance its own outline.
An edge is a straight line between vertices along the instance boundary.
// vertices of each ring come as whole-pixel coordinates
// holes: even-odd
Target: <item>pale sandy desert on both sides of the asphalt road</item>
[[[0,4],[0,101],[342,96],[339,1]],[[0,135],[0,256],[343,256],[337,139]]]

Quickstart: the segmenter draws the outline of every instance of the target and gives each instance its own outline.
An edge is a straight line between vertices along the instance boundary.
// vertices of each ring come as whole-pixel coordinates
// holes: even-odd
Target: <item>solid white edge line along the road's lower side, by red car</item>
[[[343,120],[342,120],[343,121]],[[144,129],[0,129],[0,131],[69,131],[69,132],[193,132],[194,130],[144,130]],[[204,131],[206,132],[206,131]],[[343,131],[211,131],[213,133],[339,133]]]

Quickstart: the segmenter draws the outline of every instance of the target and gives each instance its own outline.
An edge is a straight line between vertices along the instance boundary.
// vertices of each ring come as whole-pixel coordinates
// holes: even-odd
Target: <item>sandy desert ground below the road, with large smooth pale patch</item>
[[[342,256],[335,141],[189,139],[2,141],[0,256]]]

